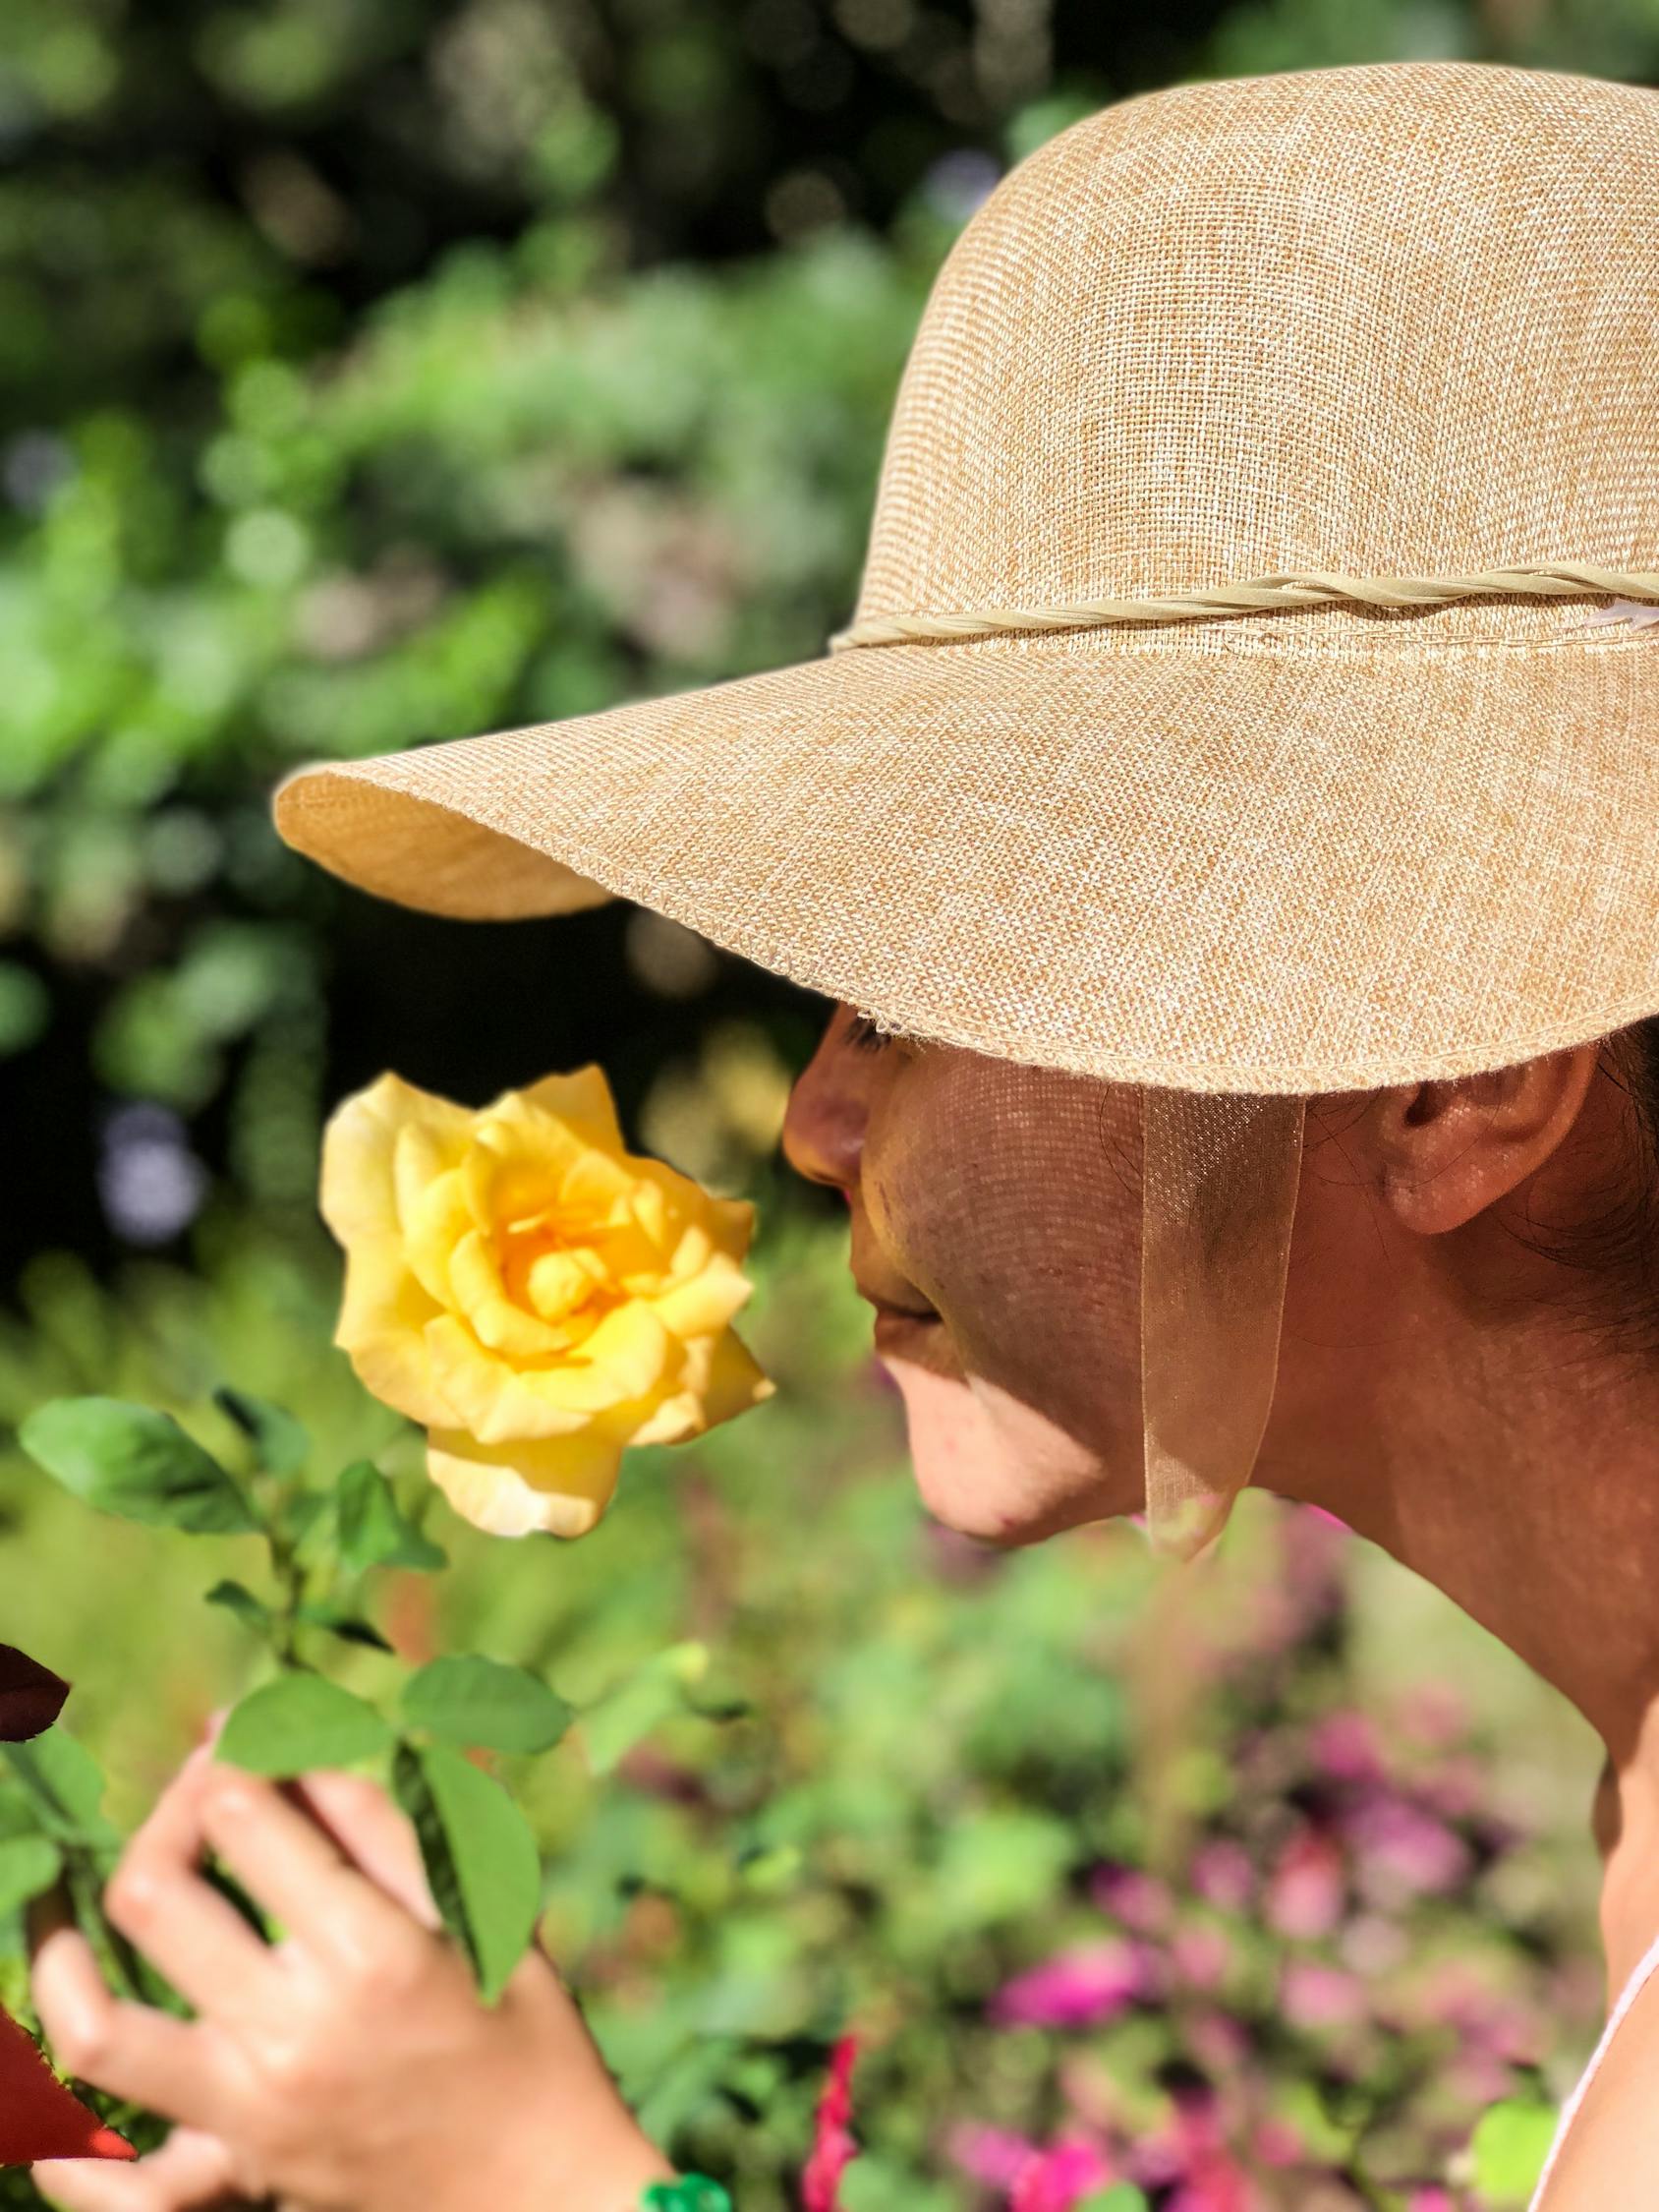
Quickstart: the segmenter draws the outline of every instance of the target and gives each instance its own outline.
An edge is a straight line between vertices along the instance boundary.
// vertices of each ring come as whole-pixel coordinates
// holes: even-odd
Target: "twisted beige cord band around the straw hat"
[[[1455,599],[1601,597],[1659,602],[1659,571],[1586,568],[1548,562],[1542,568],[1486,568],[1482,575],[1263,575],[1252,584],[1210,584],[1170,599],[1084,599],[1077,606],[984,606],[962,615],[874,615],[830,639],[832,653],[852,646],[905,646],[927,639],[1004,637],[1020,630],[1093,630],[1110,622],[1203,622],[1212,615],[1261,615],[1285,606],[1451,606]]]

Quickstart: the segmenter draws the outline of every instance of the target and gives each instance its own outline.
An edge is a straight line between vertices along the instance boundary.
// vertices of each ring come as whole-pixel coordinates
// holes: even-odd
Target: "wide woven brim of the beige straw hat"
[[[1352,1091],[1659,1011],[1659,633],[878,646],[314,765],[299,852],[478,920],[619,896],[920,1037]]]

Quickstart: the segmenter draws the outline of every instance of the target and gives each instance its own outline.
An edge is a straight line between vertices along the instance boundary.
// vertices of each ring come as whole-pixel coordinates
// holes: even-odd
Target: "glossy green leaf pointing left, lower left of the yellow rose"
[[[100,1513],[190,1535],[259,1528],[223,1467],[155,1407],[122,1398],[53,1398],[22,1422],[18,1442]]]

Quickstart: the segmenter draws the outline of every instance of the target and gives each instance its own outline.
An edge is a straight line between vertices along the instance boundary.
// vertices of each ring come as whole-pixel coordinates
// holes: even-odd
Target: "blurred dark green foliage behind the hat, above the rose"
[[[1438,53],[1652,75],[1659,9],[13,0],[0,1137],[53,1166],[7,1267],[111,1250],[111,1102],[281,1203],[414,1037],[449,1095],[522,1077],[509,962],[630,1104],[641,1035],[750,1013],[796,1051],[790,993],[666,927],[372,914],[274,843],[272,781],[821,653],[1009,161],[1148,84]]]

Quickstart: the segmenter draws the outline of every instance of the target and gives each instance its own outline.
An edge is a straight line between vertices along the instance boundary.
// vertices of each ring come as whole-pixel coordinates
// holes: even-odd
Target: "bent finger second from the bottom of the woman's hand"
[[[31,1986],[46,2042],[69,2073],[170,2119],[212,2121],[221,2062],[208,2031],[148,2004],[117,2002],[77,1929],[44,1940]]]

